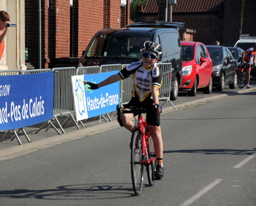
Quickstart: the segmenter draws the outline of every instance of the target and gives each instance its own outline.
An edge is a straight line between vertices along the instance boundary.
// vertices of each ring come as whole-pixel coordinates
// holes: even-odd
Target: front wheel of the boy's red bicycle
[[[144,163],[142,137],[135,131],[132,137],[131,174],[133,191],[140,195],[143,187]]]

